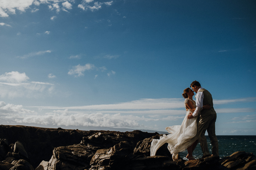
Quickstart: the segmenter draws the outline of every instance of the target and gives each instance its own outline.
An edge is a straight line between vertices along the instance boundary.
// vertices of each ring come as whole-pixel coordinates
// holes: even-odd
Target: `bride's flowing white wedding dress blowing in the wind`
[[[192,101],[193,106],[196,107],[195,101],[186,98],[185,107],[188,101]],[[186,107],[186,116],[183,119],[181,125],[175,125],[171,127],[166,127],[166,130],[171,133],[169,135],[163,135],[160,139],[153,139],[150,147],[150,156],[155,156],[157,150],[165,143],[168,143],[168,150],[172,154],[172,159],[178,159],[178,153],[186,150],[190,145],[192,145],[197,139],[197,117],[188,119],[187,116],[191,109]]]

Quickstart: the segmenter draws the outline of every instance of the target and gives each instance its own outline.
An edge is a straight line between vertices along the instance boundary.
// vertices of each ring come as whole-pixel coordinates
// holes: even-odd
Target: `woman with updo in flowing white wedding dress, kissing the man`
[[[193,160],[193,151],[198,144],[197,136],[197,124],[198,117],[188,119],[189,112],[194,112],[196,105],[195,101],[192,100],[194,91],[190,88],[186,88],[183,91],[183,97],[185,98],[186,116],[183,119],[181,125],[175,125],[166,127],[166,130],[170,133],[169,135],[163,135],[160,139],[153,139],[150,147],[150,156],[155,156],[157,150],[165,143],[168,143],[168,150],[172,154],[172,159],[175,161],[178,159],[178,153],[187,149],[188,155],[186,158]],[[208,105],[205,105],[203,109],[209,109]]]

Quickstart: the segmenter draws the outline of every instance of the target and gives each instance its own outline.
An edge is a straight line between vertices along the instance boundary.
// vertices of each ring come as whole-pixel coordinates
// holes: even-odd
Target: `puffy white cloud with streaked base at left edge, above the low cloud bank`
[[[6,72],[0,75],[0,97],[37,98],[52,93],[54,84],[28,80],[29,77],[20,72]]]

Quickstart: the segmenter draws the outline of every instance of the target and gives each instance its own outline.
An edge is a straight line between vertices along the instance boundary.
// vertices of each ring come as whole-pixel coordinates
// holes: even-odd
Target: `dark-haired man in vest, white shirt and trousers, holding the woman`
[[[206,89],[201,87],[198,81],[193,81],[190,87],[196,92],[196,109],[193,113],[188,115],[188,119],[196,117],[200,113],[197,135],[199,137],[201,149],[203,151],[203,158],[211,156],[208,150],[207,139],[205,137],[205,131],[207,130],[208,136],[212,143],[212,155],[218,155],[218,139],[215,135],[215,121],[217,118],[216,112],[213,108],[212,95]],[[211,109],[204,109],[204,105],[209,104]]]

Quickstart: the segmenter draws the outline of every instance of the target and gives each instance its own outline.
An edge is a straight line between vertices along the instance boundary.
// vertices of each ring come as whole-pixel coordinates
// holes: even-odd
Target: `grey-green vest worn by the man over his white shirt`
[[[212,95],[208,90],[206,89],[199,89],[198,92],[203,92],[204,94],[204,100],[203,100],[203,105],[209,104],[211,106],[211,109],[203,109],[201,110],[200,114],[202,117],[206,115],[216,115],[216,112],[213,108],[213,102],[212,102]]]

